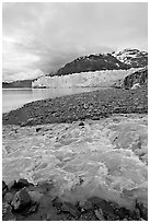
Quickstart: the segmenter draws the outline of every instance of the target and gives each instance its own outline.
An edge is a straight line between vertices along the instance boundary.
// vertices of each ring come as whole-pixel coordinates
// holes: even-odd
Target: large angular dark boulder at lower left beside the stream
[[[31,203],[30,195],[26,191],[26,188],[23,188],[14,195],[11,206],[14,208],[14,210],[18,211],[28,206],[30,203]]]

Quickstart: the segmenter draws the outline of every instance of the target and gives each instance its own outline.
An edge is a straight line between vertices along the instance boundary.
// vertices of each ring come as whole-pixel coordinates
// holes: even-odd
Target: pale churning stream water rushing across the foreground
[[[120,115],[84,127],[53,124],[3,127],[3,179],[53,180],[76,202],[91,196],[132,208],[147,202],[147,116]]]

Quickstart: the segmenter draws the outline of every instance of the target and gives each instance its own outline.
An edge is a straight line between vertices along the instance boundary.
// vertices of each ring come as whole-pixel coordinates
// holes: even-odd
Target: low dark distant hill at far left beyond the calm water
[[[22,81],[13,81],[13,82],[2,82],[2,89],[19,89],[19,87],[32,87],[32,82],[34,80],[22,80]]]

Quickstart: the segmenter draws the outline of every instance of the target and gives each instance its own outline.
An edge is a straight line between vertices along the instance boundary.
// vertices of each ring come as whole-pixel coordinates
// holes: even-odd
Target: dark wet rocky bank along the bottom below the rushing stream
[[[147,210],[141,203],[129,211],[117,203],[99,197],[79,201],[76,204],[53,198],[49,191],[53,183],[33,185],[19,179],[7,185],[2,181],[3,221],[145,221]]]

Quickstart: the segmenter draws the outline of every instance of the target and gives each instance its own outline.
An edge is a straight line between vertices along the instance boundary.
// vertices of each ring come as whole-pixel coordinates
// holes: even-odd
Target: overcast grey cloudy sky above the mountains
[[[3,3],[3,80],[54,72],[77,57],[148,47],[147,3]]]

